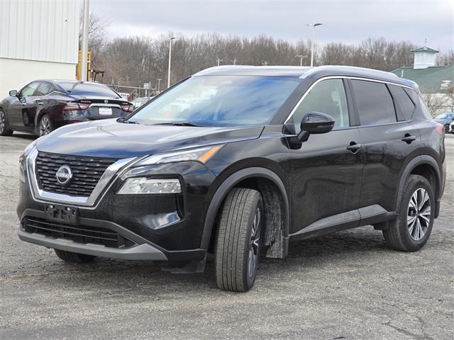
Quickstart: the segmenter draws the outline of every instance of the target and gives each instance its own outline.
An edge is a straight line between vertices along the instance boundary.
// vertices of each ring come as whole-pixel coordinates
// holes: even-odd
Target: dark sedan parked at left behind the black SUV
[[[37,80],[9,91],[0,102],[0,135],[13,131],[47,135],[62,125],[124,117],[132,103],[103,84],[74,80]]]

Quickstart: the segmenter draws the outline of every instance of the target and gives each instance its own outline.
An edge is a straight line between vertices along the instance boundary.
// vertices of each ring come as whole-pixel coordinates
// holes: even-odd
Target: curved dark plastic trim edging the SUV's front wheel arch
[[[216,215],[219,208],[221,208],[224,198],[227,196],[228,192],[233,188],[237,183],[245,179],[250,179],[252,177],[261,177],[264,179],[269,179],[272,181],[275,186],[279,189],[279,198],[282,203],[282,230],[278,230],[278,237],[275,240],[273,246],[277,249],[272,249],[267,253],[267,256],[272,254],[270,257],[284,258],[287,256],[288,244],[289,244],[289,199],[287,196],[287,190],[284,186],[282,180],[275,174],[275,172],[270,169],[261,168],[261,167],[251,167],[246,169],[241,169],[236,171],[236,173],[227,177],[225,181],[221,183],[221,186],[218,187],[216,193],[211,199],[211,203],[206,212],[205,222],[204,222],[204,231],[201,237],[201,249],[208,249],[209,242],[211,239],[211,232],[213,231],[214,222],[216,220]]]

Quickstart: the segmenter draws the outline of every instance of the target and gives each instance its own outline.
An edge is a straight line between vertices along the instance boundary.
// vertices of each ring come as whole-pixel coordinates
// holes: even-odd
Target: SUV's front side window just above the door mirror
[[[295,130],[299,132],[299,125],[306,113],[316,111],[331,115],[336,122],[334,129],[347,128],[350,126],[348,118],[347,97],[342,79],[328,79],[316,84],[299,104],[292,115]]]

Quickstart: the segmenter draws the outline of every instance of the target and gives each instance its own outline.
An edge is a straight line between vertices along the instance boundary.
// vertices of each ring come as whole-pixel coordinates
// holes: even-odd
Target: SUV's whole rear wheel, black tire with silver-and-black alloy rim
[[[426,244],[433,227],[435,198],[431,183],[423,176],[409,176],[397,213],[397,219],[387,222],[383,230],[385,241],[392,249],[418,251]]]

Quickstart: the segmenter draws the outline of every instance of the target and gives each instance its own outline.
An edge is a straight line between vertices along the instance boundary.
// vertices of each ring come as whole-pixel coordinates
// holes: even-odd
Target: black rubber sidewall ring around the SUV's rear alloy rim
[[[407,214],[408,214],[408,207],[409,207],[409,202],[411,199],[411,196],[414,194],[414,192],[419,189],[423,188],[427,191],[428,197],[431,203],[431,219],[428,224],[428,228],[426,230],[426,234],[424,234],[422,239],[419,240],[414,240],[410,233],[409,233],[409,228],[407,225]],[[431,231],[433,228],[433,220],[435,217],[435,196],[433,193],[433,188],[430,183],[426,179],[424,179],[421,176],[415,176],[414,179],[411,179],[409,183],[407,184],[405,188],[405,194],[404,198],[402,201],[402,208],[401,212],[399,213],[399,229],[400,229],[400,234],[402,237],[402,242],[404,242],[404,245],[411,251],[416,251],[419,250],[423,247],[424,244],[426,244],[428,238],[431,235]]]

